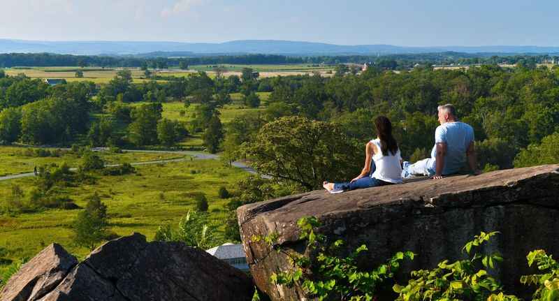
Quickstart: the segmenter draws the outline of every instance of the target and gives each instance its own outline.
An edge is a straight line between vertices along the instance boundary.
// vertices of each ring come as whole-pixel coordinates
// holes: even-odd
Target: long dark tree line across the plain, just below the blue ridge
[[[192,65],[219,64],[364,64],[390,70],[405,70],[415,64],[431,66],[433,64],[522,64],[535,66],[559,56],[548,54],[514,54],[498,53],[465,53],[465,52],[432,52],[421,54],[386,54],[377,55],[337,55],[337,56],[284,56],[277,54],[242,54],[204,56],[184,52],[154,52],[135,57],[103,57],[49,53],[12,53],[0,54],[0,67],[13,66],[101,66],[101,67],[136,67],[187,69]]]

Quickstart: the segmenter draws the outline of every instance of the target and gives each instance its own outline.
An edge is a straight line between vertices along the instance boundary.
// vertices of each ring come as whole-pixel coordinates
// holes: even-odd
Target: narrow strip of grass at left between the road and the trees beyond
[[[0,176],[15,175],[24,172],[32,172],[35,166],[43,166],[51,163],[68,163],[70,167],[77,167],[80,164],[78,154],[63,152],[60,157],[35,157],[26,156],[27,147],[7,147],[0,146]],[[52,149],[54,150],[54,149]],[[163,159],[175,159],[182,156],[177,154],[149,154],[149,153],[122,153],[112,154],[109,152],[99,152],[101,159],[107,164],[116,163],[136,163],[145,161],[157,161]]]

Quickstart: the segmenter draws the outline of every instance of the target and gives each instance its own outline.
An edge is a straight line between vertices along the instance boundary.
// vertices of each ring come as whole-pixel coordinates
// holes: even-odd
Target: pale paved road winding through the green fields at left
[[[106,149],[102,149],[102,148],[96,148],[94,149],[94,151],[96,152],[103,152]],[[191,152],[191,151],[151,151],[151,150],[136,150],[136,149],[123,149],[123,152],[145,152],[145,153],[161,153],[161,154],[182,154],[182,155],[187,155],[187,156],[192,156],[195,160],[208,160],[208,159],[219,159],[219,156],[217,154],[207,154],[207,153],[203,153],[203,152]],[[181,161],[187,161],[190,160],[188,158],[180,158],[180,159],[166,159],[166,160],[157,160],[157,161],[145,161],[145,162],[136,162],[136,163],[131,163],[131,166],[142,166],[142,165],[150,165],[150,164],[161,164],[161,163],[170,163],[170,162],[181,162]],[[119,164],[110,164],[107,165],[107,167],[114,167],[114,166],[119,166]],[[240,168],[242,170],[245,170],[246,172],[252,173],[252,174],[256,174],[256,170],[254,170],[253,168],[247,166],[245,163],[242,162],[233,162],[233,166],[235,166],[236,168]],[[70,170],[75,171],[78,170],[78,168],[70,168]],[[0,181],[6,181],[8,179],[20,179],[22,177],[33,177],[35,174],[34,172],[25,172],[25,173],[20,173],[17,175],[6,175],[3,177],[0,177]]]

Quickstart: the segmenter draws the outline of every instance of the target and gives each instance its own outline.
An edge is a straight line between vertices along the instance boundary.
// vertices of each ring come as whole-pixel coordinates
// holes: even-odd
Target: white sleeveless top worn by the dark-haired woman
[[[395,154],[389,151],[389,155],[384,156],[380,147],[380,140],[377,138],[371,140],[371,143],[377,147],[377,153],[372,155],[376,169],[371,177],[394,184],[402,183],[402,166],[400,166],[402,157],[400,156],[400,149]]]

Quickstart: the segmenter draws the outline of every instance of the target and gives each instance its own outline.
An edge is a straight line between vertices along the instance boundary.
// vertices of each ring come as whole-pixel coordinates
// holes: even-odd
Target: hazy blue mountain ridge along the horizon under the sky
[[[558,54],[559,47],[532,45],[496,46],[436,46],[407,47],[396,45],[335,45],[328,43],[242,40],[224,43],[181,43],[181,42],[128,42],[128,41],[24,41],[0,39],[0,53],[49,52],[56,54],[87,55],[137,55],[167,52],[184,56],[196,54],[284,54],[284,55],[344,55],[344,54],[405,54],[428,52],[494,52],[494,53],[534,53]]]

